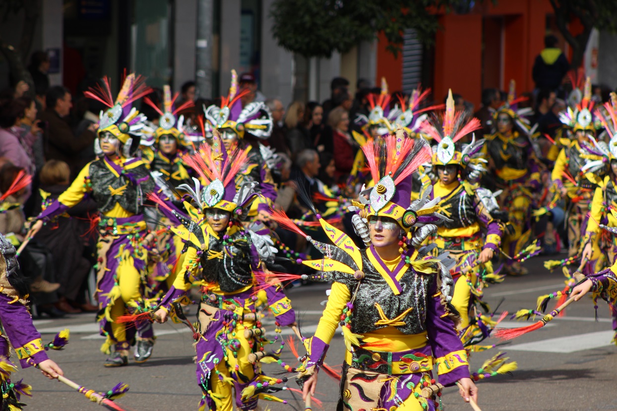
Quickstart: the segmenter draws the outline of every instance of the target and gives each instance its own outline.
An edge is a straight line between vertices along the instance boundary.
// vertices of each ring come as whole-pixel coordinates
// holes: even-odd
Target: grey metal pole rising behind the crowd
[[[201,98],[212,98],[213,1],[197,1],[195,78],[199,97]]]

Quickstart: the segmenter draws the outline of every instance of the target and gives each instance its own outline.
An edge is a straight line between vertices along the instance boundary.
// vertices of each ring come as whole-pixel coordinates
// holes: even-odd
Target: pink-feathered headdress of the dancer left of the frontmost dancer
[[[183,184],[178,188],[186,190],[201,209],[217,208],[242,214],[241,207],[249,200],[250,193],[248,188],[244,190],[244,185],[236,193],[236,174],[246,165],[247,154],[247,149],[239,148],[227,152],[218,131],[214,130],[211,144],[202,144],[194,154],[182,157],[201,181],[193,178],[194,187]]]

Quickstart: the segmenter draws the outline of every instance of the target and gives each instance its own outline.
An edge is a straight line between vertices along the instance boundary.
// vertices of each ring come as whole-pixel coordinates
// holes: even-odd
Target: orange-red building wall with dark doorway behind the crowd
[[[514,79],[519,94],[531,91],[534,88],[531,70],[536,56],[544,48],[548,14],[553,14],[549,0],[499,0],[496,5],[484,2],[469,14],[441,15],[442,30],[437,32],[434,44],[432,86],[435,99],[441,102],[448,88],[452,88],[478,109],[482,87],[497,86],[495,83],[499,83],[499,79],[502,79],[499,87],[503,90],[507,90],[510,79]],[[503,21],[503,41],[500,27],[496,27],[500,20]],[[490,28],[484,27],[485,22]],[[499,34],[499,41],[486,39],[486,50],[482,42],[483,28],[484,35]],[[376,84],[385,76],[392,90],[400,89],[402,58],[394,59],[386,46],[384,36],[380,35]],[[489,53],[484,59],[483,52]],[[486,83],[482,81],[483,66],[487,73]]]

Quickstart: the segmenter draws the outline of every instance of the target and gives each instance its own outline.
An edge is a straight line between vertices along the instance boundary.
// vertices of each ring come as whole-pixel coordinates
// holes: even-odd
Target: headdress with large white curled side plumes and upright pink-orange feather
[[[231,128],[240,138],[248,131],[260,139],[267,139],[272,133],[272,115],[270,109],[261,101],[251,102],[242,109],[240,99],[249,90],[238,93],[238,75],[231,70],[231,86],[227,97],[221,99],[221,106],[204,106],[206,135],[210,136],[214,128]]]

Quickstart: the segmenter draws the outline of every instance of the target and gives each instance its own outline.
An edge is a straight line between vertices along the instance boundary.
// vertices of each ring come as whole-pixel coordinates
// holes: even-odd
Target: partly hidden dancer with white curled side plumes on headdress
[[[242,108],[241,98],[247,93],[250,93],[249,89],[238,93],[238,76],[236,70],[231,70],[230,91],[226,98],[222,98],[221,106],[204,107],[207,120],[205,135],[211,136],[216,129],[226,149],[249,148],[248,161],[236,175],[236,189],[246,182],[254,181],[258,184],[256,189],[259,196],[253,202],[249,216],[267,221],[270,218],[268,210],[276,200],[276,188],[259,148],[261,144],[258,141],[251,144],[244,136],[249,133],[257,139],[269,138],[273,127],[272,118],[270,110],[263,102],[251,102]]]

